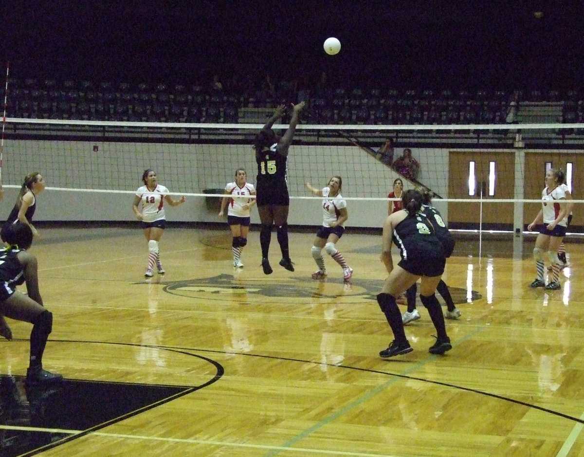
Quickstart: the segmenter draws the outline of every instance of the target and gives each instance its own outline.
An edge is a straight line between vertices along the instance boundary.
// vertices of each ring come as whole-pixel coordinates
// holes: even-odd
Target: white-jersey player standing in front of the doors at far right
[[[560,289],[559,270],[561,262],[558,258],[558,247],[566,234],[567,203],[566,188],[562,186],[564,172],[560,169],[550,169],[545,174],[545,189],[541,192],[541,209],[537,213],[527,230],[533,230],[541,224],[540,233],[536,238],[536,247],[533,249],[533,257],[536,261],[537,278],[529,286],[531,288],[543,287],[548,290]],[[569,192],[568,192],[569,195]],[[552,281],[545,285],[544,279],[544,251],[547,251],[551,262]]]

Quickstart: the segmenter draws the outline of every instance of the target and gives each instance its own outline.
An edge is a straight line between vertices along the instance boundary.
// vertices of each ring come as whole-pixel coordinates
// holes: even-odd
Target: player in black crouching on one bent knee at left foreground
[[[43,307],[37,276],[37,259],[27,252],[33,241],[30,227],[20,221],[5,230],[8,244],[0,251],[0,335],[12,340],[12,331],[4,317],[30,322],[30,365],[26,371],[29,383],[55,382],[61,375],[43,370],[43,352],[53,328],[53,314]],[[26,281],[27,295],[16,290]]]

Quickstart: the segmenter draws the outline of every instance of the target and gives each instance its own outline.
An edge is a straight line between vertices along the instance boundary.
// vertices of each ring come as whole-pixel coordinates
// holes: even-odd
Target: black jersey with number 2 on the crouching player
[[[421,212],[413,217],[408,216],[397,224],[393,240],[404,260],[445,257],[442,243],[425,214]]]

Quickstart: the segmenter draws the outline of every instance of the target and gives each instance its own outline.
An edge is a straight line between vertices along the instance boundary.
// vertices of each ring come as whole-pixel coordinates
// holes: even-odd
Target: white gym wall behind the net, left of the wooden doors
[[[94,147],[98,151],[94,151]],[[412,152],[422,164],[420,181],[446,198],[449,149],[412,148]],[[401,148],[398,148],[396,155],[400,153]],[[218,221],[216,214],[207,210],[203,196],[189,194],[201,194],[203,189],[209,188],[223,189],[232,181],[238,167],[246,168],[248,181],[255,182],[256,164],[251,144],[9,140],[5,144],[2,169],[6,195],[0,205],[7,216],[23,177],[39,171],[46,178],[49,189],[38,198],[34,220],[134,220],[133,193],[142,185],[142,171],[153,168],[160,184],[171,192],[187,195],[185,205],[167,209],[169,221]],[[288,184],[292,197],[310,196],[304,182],[324,186],[332,175],[343,178],[342,195],[349,199],[347,226],[380,227],[387,215],[384,199],[399,175],[354,146],[294,144],[290,148]],[[411,186],[406,183],[405,188]],[[378,200],[351,201],[350,198]],[[447,217],[446,205],[440,205],[439,200],[435,203]],[[319,200],[291,200],[289,224],[318,225],[321,217]],[[252,223],[259,223],[256,211]]]

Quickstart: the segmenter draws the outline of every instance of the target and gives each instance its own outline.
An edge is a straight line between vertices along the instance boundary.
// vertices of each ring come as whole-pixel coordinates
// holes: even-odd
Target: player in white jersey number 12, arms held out
[[[158,242],[166,227],[166,216],[164,213],[164,202],[171,206],[178,206],[186,202],[185,196],[179,200],[173,199],[168,195],[168,189],[165,186],[157,184],[156,173],[148,168],[142,173],[144,185],[138,188],[134,197],[132,209],[136,219],[141,221],[141,227],[144,229],[144,237],[148,241],[148,266],[144,276],[151,278],[154,275],[154,264],[156,263],[158,274],[164,275],[165,271],[160,262],[160,251]],[[140,203],[142,207],[140,209]]]

